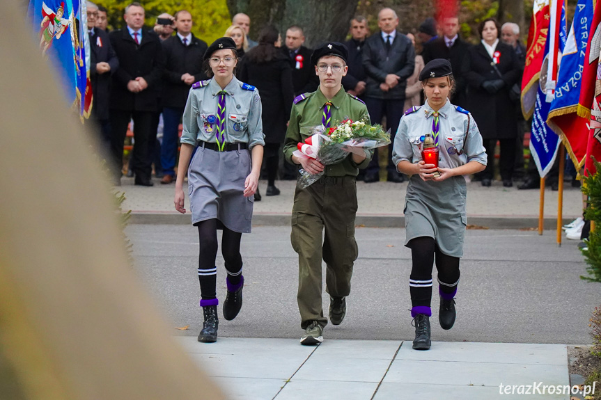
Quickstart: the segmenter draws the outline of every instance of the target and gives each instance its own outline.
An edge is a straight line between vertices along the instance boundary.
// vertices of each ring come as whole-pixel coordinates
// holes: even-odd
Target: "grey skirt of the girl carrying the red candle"
[[[443,254],[462,257],[466,194],[462,176],[424,182],[413,175],[405,197],[405,246],[416,237],[432,237]]]

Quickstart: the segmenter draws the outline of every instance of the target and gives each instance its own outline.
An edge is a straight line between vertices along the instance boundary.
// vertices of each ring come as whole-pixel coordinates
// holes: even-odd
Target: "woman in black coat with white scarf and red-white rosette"
[[[482,134],[488,163],[481,173],[482,186],[490,186],[494,177],[494,146],[501,143],[499,167],[503,186],[513,186],[511,175],[515,160],[517,118],[509,97],[511,86],[522,77],[522,68],[510,45],[499,41],[501,27],[493,18],[478,27],[481,43],[471,47],[463,63],[467,80],[467,107]]]

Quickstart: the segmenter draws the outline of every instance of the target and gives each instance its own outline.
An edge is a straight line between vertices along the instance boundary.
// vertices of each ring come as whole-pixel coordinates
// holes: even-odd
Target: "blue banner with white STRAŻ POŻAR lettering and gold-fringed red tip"
[[[577,109],[592,20],[593,0],[579,0],[547,117],[547,125],[559,135],[577,170],[584,166],[588,140],[588,120],[580,117]]]

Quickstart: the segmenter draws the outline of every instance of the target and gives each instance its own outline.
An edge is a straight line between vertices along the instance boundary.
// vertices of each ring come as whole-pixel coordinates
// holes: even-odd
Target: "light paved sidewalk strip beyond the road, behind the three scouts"
[[[122,178],[127,200],[123,209],[131,209],[132,223],[190,223],[189,214],[179,214],[173,208],[174,184],[159,184],[147,188],[134,186],[133,178]],[[267,182],[260,182],[263,200],[255,203],[254,225],[288,225],[295,190],[295,181],[276,181],[281,195],[267,197]],[[480,182],[471,182],[467,190],[467,216],[471,225],[496,228],[529,228],[538,226],[539,190],[520,191],[517,187],[504,188],[493,182],[490,188]],[[563,218],[565,223],[582,214],[582,193],[566,182],[563,192]],[[357,182],[357,225],[366,227],[404,226],[403,208],[407,182],[391,184]],[[185,190],[185,192],[187,192]],[[186,193],[187,194],[187,193]],[[554,229],[557,218],[558,192],[545,190],[545,229]],[[186,207],[189,202],[186,199]]]

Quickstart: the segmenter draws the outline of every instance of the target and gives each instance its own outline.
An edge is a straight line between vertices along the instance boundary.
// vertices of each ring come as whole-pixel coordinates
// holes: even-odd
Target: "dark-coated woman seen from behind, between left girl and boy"
[[[286,125],[294,99],[292,67],[286,54],[279,49],[280,35],[273,26],[259,33],[259,44],[248,51],[240,63],[237,78],[259,90],[263,104],[265,133],[266,195],[279,195],[275,179],[279,164],[279,147],[286,136]]]

